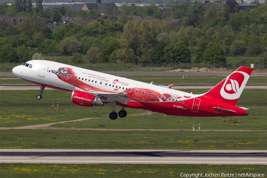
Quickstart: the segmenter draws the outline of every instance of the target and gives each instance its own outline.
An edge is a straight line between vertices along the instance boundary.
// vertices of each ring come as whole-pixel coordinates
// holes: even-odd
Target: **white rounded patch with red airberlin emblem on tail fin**
[[[225,99],[238,99],[245,88],[249,75],[242,71],[233,72],[222,85],[220,94]]]

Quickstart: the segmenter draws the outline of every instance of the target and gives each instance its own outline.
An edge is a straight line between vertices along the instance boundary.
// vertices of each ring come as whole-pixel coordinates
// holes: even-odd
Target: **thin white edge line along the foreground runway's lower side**
[[[210,162],[210,161],[79,161],[79,160],[76,160],[76,161],[57,161],[57,160],[54,160],[54,161],[27,161],[27,160],[22,160],[22,161],[11,161],[11,160],[1,160],[0,162],[3,162],[3,161],[9,161],[9,162],[86,162],[86,163],[89,163],[89,162],[96,162],[96,163],[100,163],[100,162],[107,162],[107,163],[267,163],[267,162],[220,162],[220,161],[213,161],[213,162]]]

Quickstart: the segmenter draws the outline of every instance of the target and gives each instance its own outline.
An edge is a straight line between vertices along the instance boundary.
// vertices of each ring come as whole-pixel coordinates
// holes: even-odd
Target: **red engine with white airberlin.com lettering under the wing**
[[[100,101],[97,96],[79,90],[74,90],[72,92],[71,102],[78,106],[85,106],[85,107],[104,105],[104,103]]]

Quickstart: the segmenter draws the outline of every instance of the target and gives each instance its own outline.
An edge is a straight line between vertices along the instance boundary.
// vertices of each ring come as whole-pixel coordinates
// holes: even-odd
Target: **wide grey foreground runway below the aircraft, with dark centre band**
[[[266,150],[0,149],[0,163],[262,164]]]

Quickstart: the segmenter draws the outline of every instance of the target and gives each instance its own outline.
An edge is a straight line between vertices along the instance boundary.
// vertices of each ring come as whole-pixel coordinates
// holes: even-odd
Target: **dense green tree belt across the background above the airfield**
[[[2,4],[1,14],[11,8],[2,9]],[[16,26],[1,23],[0,60],[25,62],[35,53],[72,56],[74,63],[189,63],[193,56],[193,62],[224,63],[229,55],[265,58],[266,5],[239,11],[238,5],[231,3],[222,8],[217,2],[203,5],[197,1],[176,1],[165,5],[172,9],[166,13],[158,8],[163,5],[124,5],[120,7],[123,13],[119,18],[97,18],[90,23],[78,18],[74,23],[53,28],[45,27],[36,15],[51,18],[50,14],[60,17],[99,14],[96,9],[91,12],[71,12],[64,7],[53,11],[40,9],[31,20]],[[27,8],[18,14],[28,13]],[[141,15],[143,19],[134,20],[129,15]],[[161,20],[173,18],[184,23],[167,24]]]

